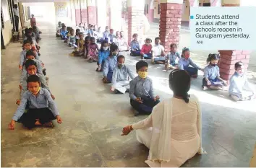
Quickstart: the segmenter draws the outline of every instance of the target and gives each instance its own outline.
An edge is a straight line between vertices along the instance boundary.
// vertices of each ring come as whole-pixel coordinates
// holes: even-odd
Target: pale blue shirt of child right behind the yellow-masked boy
[[[128,76],[130,76],[131,79],[135,78],[134,74],[132,74],[132,71],[129,69],[128,66],[124,65],[121,68],[116,66],[116,68],[114,68],[112,76],[112,87],[114,86],[114,84],[116,84],[116,81],[127,81]]]

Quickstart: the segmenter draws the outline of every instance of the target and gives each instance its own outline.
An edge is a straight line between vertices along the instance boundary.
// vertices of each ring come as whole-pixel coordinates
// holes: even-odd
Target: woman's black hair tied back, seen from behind
[[[175,69],[169,75],[169,87],[174,95],[182,97],[185,102],[189,102],[189,92],[191,78],[187,71]]]

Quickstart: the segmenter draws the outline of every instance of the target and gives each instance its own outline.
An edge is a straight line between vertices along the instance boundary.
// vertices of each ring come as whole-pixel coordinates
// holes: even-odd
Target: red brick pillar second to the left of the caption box
[[[132,35],[137,33],[142,37],[144,30],[144,1],[128,0],[128,43],[132,41]]]

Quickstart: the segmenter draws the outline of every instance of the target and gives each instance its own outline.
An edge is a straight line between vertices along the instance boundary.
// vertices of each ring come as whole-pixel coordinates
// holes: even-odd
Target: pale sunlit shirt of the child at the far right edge
[[[229,94],[233,95],[242,95],[243,90],[250,91],[252,93],[255,93],[254,89],[249,84],[249,81],[247,79],[246,74],[239,75],[237,72],[235,72],[229,81]],[[240,97],[240,96],[239,96]],[[241,97],[240,97],[241,98]]]

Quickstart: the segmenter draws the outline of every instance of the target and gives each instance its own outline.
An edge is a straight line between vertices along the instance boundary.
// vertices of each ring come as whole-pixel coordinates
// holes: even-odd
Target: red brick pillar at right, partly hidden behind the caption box
[[[212,1],[211,1],[212,2]],[[232,3],[232,4],[231,4]],[[212,4],[218,6],[221,5],[219,1]],[[240,6],[240,0],[223,0],[223,6]],[[218,61],[218,66],[220,67],[221,78],[229,80],[232,74],[234,74],[234,64],[236,62],[242,61],[244,63],[244,68],[247,71],[249,63],[249,50],[219,50],[221,55],[220,61]]]

